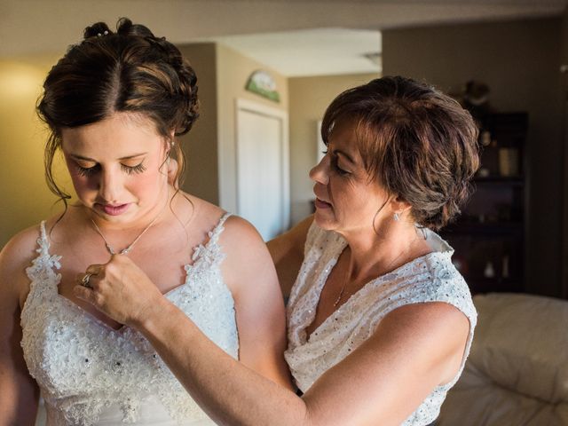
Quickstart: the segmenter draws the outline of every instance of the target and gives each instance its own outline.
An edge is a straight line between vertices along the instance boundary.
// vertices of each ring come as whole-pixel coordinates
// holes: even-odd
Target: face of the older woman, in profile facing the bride
[[[381,211],[375,218],[388,197],[363,166],[355,124],[337,123],[328,142],[327,154],[310,171],[315,182],[315,221],[320,227],[339,233],[373,232],[374,219],[380,221],[390,214]]]

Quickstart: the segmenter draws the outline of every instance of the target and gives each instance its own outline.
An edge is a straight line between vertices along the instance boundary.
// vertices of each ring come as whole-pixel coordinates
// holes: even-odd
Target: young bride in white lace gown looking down
[[[97,23],[43,88],[46,176],[65,211],[0,254],[0,423],[34,424],[41,390],[51,425],[212,424],[143,335],[74,296],[77,275],[88,287],[87,266],[109,259],[137,264],[223,351],[290,387],[262,239],[168,183],[170,155],[183,170],[176,137],[198,116],[196,77],[177,48],[130,20],[115,33]],[[51,175],[59,150],[75,204]]]

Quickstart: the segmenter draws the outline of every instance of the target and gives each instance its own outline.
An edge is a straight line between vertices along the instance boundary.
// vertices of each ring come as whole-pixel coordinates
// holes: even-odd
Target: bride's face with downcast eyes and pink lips
[[[77,197],[100,218],[126,224],[163,206],[168,142],[150,119],[115,113],[61,138]]]

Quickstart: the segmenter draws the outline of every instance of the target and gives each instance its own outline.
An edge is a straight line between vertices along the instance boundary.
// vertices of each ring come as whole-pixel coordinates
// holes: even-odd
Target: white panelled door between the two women
[[[286,113],[237,102],[237,210],[268,241],[289,217]]]

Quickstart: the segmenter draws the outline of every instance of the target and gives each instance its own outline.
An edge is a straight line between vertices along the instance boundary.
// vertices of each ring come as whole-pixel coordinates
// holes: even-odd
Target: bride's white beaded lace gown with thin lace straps
[[[220,271],[225,255],[218,244],[226,217],[194,248],[185,284],[166,296],[236,359],[233,296]],[[45,399],[47,424],[214,424],[143,335],[130,327],[115,331],[59,295],[62,259],[50,254],[44,223],[37,242],[38,256],[27,269],[21,345]]]

